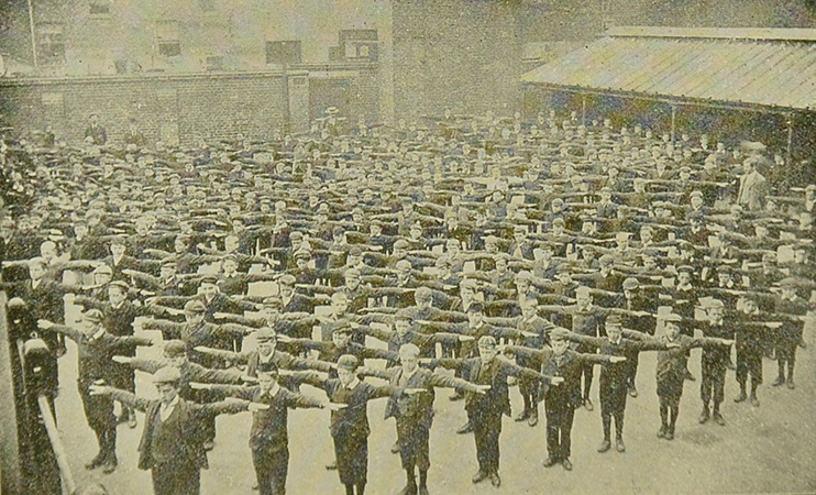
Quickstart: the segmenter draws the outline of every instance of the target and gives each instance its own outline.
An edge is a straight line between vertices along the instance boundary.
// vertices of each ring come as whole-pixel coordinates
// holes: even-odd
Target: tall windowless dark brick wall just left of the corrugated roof
[[[512,114],[520,98],[518,1],[395,0],[394,100],[412,121],[493,110]]]

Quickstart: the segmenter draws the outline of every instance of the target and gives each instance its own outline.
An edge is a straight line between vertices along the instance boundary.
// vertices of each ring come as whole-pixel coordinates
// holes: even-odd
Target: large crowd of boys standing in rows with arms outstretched
[[[155,493],[198,493],[216,416],[250,410],[257,488],[283,494],[288,409],[328,408],[327,468],[362,495],[367,403],[385,398],[401,493],[428,494],[444,387],[475,439],[473,483],[499,487],[512,384],[515,420],[536,427],[543,403],[543,465],[566,471],[574,414],[595,408],[595,366],[602,453],[626,451],[641,352],[658,353],[663,440],[687,381],[701,386],[699,422],[719,426],[729,369],[736,403],[760,406],[763,359],[778,362],[773,386],[795,388],[816,186],[792,186],[762,144],[554,111],[532,122],[445,111],[424,125],[352,129],[330,113],[298,136],[147,147],[135,121],[110,144],[92,116],[80,146],[2,146],[0,287],[13,336],[43,339],[55,361],[66,338],[77,344],[99,442],[87,469],[117,469],[117,425],[135,428],[140,410],[139,468]],[[78,322],[66,300],[85,309]],[[136,321],[162,339],[134,336]],[[145,345],[162,359],[137,356]],[[153,374],[158,399],[135,394],[136,371]]]

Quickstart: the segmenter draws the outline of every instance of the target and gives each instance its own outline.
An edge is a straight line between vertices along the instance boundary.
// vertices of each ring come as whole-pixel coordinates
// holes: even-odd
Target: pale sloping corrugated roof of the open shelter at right
[[[814,109],[816,43],[672,34],[607,36],[525,74],[521,80],[690,100]]]

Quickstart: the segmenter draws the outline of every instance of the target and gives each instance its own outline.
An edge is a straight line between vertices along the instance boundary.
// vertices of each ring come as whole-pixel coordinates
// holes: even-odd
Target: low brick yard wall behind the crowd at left
[[[307,74],[290,74],[290,79]],[[0,82],[0,112],[16,129],[44,129],[69,142],[81,140],[88,116],[98,113],[110,142],[135,118],[148,141],[189,143],[196,135],[269,138],[284,129],[286,100],[280,73],[141,78],[40,79]],[[290,91],[293,127],[304,129],[304,91]]]

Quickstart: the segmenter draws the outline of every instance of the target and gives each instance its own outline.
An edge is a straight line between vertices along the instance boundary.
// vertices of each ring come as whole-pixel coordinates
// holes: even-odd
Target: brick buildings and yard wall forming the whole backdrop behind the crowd
[[[183,142],[194,129],[297,132],[327,107],[352,124],[444,108],[511,116],[521,74],[608,25],[816,26],[809,0],[31,0],[33,15],[27,0],[0,6],[7,122],[75,138],[95,111],[114,138],[135,117],[152,138]]]

